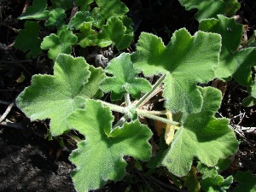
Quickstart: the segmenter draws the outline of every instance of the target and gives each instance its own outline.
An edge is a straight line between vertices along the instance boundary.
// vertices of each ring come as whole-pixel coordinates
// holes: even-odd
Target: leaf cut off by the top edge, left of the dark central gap
[[[91,12],[95,20],[94,26],[101,28],[105,20],[111,17],[118,17],[128,13],[129,9],[120,0],[96,0],[98,7],[94,8]]]

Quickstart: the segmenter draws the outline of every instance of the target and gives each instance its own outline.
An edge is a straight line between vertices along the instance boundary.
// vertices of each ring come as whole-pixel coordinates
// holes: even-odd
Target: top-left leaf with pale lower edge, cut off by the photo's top
[[[26,8],[25,13],[21,14],[18,19],[27,20],[44,20],[48,19],[49,11],[45,10],[47,8],[46,0],[33,0],[32,6]]]

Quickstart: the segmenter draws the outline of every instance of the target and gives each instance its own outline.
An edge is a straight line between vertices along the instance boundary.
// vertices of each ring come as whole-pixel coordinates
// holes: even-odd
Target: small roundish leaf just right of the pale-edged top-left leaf
[[[65,24],[65,10],[61,8],[53,9],[49,12],[49,20],[45,22],[45,26],[63,26]]]

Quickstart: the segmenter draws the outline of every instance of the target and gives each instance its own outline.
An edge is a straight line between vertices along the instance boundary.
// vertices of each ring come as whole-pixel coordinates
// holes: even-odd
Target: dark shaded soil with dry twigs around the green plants
[[[172,32],[181,27],[186,27],[191,34],[197,30],[198,22],[194,18],[196,11],[185,11],[177,0],[123,2],[131,9],[129,15],[134,20],[136,38],[140,32],[152,32],[167,43],[172,37]],[[253,14],[256,13],[256,3],[254,0],[240,2],[241,9],[237,15],[241,16],[243,24],[250,27],[247,32],[250,36],[256,28],[256,16]],[[51,73],[52,70],[47,58],[41,58],[38,65],[36,60],[26,60],[26,55],[13,47],[17,30],[24,27],[24,21],[17,20],[17,17],[25,4],[25,0],[0,0],[1,115],[9,104],[15,101],[16,96],[30,84],[33,74]],[[18,80],[22,77],[21,74],[26,78],[22,83]],[[246,89],[235,82],[230,82],[227,86],[219,113],[229,118],[231,125],[255,127],[256,108],[241,107],[242,99],[247,96]],[[61,148],[57,139],[49,141],[44,138],[49,129],[48,119],[30,122],[18,108],[13,107],[5,122],[7,125],[0,125],[0,191],[75,191],[70,177],[74,166],[68,160],[70,149],[75,146],[66,139],[67,148]],[[229,172],[250,170],[255,174],[255,135],[237,134],[237,139],[241,141],[241,145],[233,157],[236,160],[230,167],[233,171]],[[138,182],[148,184],[140,172],[132,171],[132,166],[130,168],[129,172],[133,174],[132,181],[127,178],[126,183],[108,183],[97,191],[125,191],[127,188],[138,191]],[[161,191],[182,191],[166,187],[168,184],[170,183],[166,178],[157,182]]]

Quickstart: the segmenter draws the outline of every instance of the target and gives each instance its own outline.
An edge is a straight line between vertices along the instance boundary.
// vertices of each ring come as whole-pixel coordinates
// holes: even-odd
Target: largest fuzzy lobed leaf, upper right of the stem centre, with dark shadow
[[[202,97],[196,84],[215,78],[213,67],[218,64],[220,41],[218,34],[196,32],[191,36],[180,29],[165,46],[160,38],[143,32],[131,61],[146,76],[166,73],[166,108],[174,113],[197,113]]]

